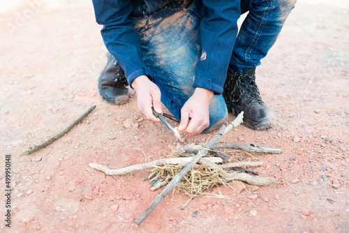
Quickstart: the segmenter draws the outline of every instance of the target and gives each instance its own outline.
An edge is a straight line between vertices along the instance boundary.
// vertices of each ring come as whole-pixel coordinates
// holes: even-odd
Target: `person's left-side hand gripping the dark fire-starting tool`
[[[137,93],[138,111],[140,111],[149,121],[159,122],[153,114],[151,107],[158,113],[162,113],[161,91],[158,86],[151,82],[146,75],[141,75],[133,80],[131,86]]]

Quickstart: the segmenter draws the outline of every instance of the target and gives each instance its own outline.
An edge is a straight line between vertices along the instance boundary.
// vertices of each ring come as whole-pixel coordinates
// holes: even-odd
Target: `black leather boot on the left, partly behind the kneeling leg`
[[[114,105],[124,105],[128,100],[128,83],[124,70],[107,52],[107,64],[98,78],[98,89],[102,98]]]

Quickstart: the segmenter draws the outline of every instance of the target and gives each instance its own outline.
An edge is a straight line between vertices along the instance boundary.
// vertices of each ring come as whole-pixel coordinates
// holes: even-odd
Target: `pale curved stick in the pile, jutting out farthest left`
[[[89,163],[89,166],[98,171],[104,172],[107,175],[117,176],[121,174],[127,174],[130,172],[153,168],[154,166],[161,166],[161,165],[168,165],[168,164],[178,165],[178,167],[185,167],[192,160],[192,158],[193,157],[163,158],[161,160],[155,160],[149,163],[136,164],[136,165],[123,167],[120,169],[114,169],[114,170],[106,167],[105,165],[99,165],[97,163]],[[216,158],[216,157],[201,158],[201,159],[209,160],[211,163],[222,163],[223,161],[221,158]]]

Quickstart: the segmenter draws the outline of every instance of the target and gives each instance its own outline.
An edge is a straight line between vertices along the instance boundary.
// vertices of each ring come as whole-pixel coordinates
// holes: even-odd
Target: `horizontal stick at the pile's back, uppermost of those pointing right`
[[[202,148],[201,145],[186,145],[181,146],[177,145],[176,149],[173,151],[175,155],[179,155],[181,153],[193,153]],[[217,142],[212,146],[212,149],[221,149],[221,148],[229,148],[229,149],[239,149],[242,151],[249,152],[262,152],[262,153],[282,153],[279,148],[270,148],[270,147],[255,147],[248,144],[238,143],[238,142]]]

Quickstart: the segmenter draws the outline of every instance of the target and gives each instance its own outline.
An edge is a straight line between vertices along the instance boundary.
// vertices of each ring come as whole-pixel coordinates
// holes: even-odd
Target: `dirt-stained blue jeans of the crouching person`
[[[286,17],[296,0],[253,0],[241,3],[242,13],[249,10],[235,43],[230,65],[242,73],[258,66],[274,45]],[[177,119],[181,107],[190,98],[195,87],[195,64],[200,59],[200,20],[203,10],[192,6],[158,22],[144,25],[140,18],[135,29],[140,33],[144,62],[152,73],[153,82],[161,90],[161,102]],[[214,95],[209,105],[207,133],[221,127],[228,118],[222,95]]]

